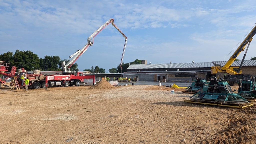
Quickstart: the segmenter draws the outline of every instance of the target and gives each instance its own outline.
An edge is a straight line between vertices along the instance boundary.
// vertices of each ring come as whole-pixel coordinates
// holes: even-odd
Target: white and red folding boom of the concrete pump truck
[[[84,53],[86,52],[86,50],[92,46],[93,44],[93,40],[94,40],[94,37],[96,35],[98,35],[101,30],[103,30],[108,24],[112,24],[121,34],[122,36],[124,37],[125,39],[125,43],[124,43],[124,49],[123,49],[123,54],[122,54],[122,58],[121,58],[121,63],[120,63],[120,67],[121,67],[121,64],[122,64],[122,61],[123,61],[123,56],[124,56],[124,50],[125,50],[125,47],[126,47],[126,42],[127,42],[127,37],[121,32],[121,30],[114,24],[114,19],[113,18],[110,18],[108,21],[106,21],[101,27],[99,27],[97,30],[95,30],[95,32],[93,32],[88,38],[87,38],[87,44],[83,46],[82,49],[79,49],[77,50],[74,54],[72,54],[71,56],[69,56],[70,61],[65,64],[65,61],[62,61],[62,69],[63,69],[63,72],[65,71],[65,73],[71,73],[70,71],[70,67],[74,64],[74,62]],[[69,59],[68,58],[68,59]],[[67,59],[67,60],[68,60]],[[122,67],[121,67],[122,68]]]

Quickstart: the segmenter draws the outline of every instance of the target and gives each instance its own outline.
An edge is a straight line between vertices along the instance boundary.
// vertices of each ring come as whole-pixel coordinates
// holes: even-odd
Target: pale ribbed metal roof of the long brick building
[[[213,61],[219,65],[225,65],[227,61]],[[234,61],[231,66],[240,66],[241,60]],[[212,67],[212,62],[203,63],[172,63],[172,64],[138,64],[130,65],[127,69],[153,69],[153,68],[202,68]],[[256,60],[244,60],[243,66],[256,66]]]

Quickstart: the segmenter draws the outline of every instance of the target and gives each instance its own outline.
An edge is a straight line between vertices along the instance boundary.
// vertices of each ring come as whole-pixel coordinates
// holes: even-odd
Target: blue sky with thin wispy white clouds
[[[124,63],[135,59],[152,64],[228,60],[256,23],[255,12],[255,0],[0,0],[0,54],[18,49],[30,50],[39,58],[67,59],[98,27],[114,18],[128,38]],[[120,64],[123,45],[122,35],[108,25],[77,59],[78,68],[97,65],[108,72]],[[252,40],[246,60],[256,56],[255,47],[256,40]]]

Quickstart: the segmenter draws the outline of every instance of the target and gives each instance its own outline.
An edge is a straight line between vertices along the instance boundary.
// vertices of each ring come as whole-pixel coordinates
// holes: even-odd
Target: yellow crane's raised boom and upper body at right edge
[[[234,60],[237,58],[237,56],[242,52],[244,51],[246,45],[248,44],[247,46],[247,50],[249,48],[249,45],[252,41],[252,37],[255,35],[256,33],[256,25],[254,25],[254,27],[252,28],[252,30],[250,31],[250,33],[247,35],[247,37],[243,40],[243,42],[239,45],[239,47],[236,49],[236,51],[233,53],[233,55],[229,58],[229,60],[227,61],[227,63],[224,65],[224,66],[219,66],[215,63],[213,63],[215,66],[211,67],[211,74],[216,74],[217,72],[227,72],[231,75],[234,75],[234,74],[241,74],[242,71],[240,70],[241,69],[241,65],[242,65],[242,62],[240,64],[240,68],[239,67],[230,67],[231,64],[234,62]],[[247,52],[246,50],[246,52]],[[246,55],[246,54],[245,54]],[[244,58],[243,58],[244,59]],[[236,70],[235,70],[236,69]]]

